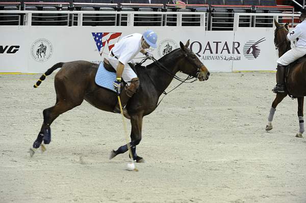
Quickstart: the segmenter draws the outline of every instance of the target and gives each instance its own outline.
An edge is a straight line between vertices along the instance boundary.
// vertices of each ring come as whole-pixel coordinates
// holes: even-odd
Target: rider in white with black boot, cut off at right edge
[[[291,33],[288,33],[289,40],[296,40],[295,47],[287,51],[277,60],[276,86],[272,90],[274,93],[285,92],[285,69],[286,67],[306,54],[306,6],[300,10],[300,24],[296,25]]]

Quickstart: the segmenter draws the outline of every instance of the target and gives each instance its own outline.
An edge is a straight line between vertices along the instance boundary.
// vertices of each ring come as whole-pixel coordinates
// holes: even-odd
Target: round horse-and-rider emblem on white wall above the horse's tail
[[[31,55],[37,62],[46,62],[53,54],[51,42],[45,38],[36,40],[31,46]]]

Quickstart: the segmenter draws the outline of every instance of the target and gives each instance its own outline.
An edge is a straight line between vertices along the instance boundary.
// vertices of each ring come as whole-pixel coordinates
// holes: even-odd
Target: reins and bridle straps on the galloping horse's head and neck
[[[191,63],[191,61],[188,59],[188,54],[187,54],[187,53],[184,54],[184,56],[186,57],[187,61],[188,61],[190,64],[192,64],[193,66],[196,66],[194,63]],[[145,59],[143,59],[143,60],[140,62],[140,65],[143,64],[146,60],[148,60],[147,57],[145,57]],[[175,78],[175,79],[181,81],[180,84],[178,84],[177,86],[175,86],[175,88],[173,88],[172,90],[170,90],[170,91],[167,93],[167,92],[164,91],[164,90],[159,90],[159,89],[157,88],[157,86],[155,85],[154,81],[152,80],[151,76],[150,76],[149,74],[147,74],[147,72],[145,72],[145,73],[147,74],[147,76],[149,77],[149,79],[151,80],[152,84],[155,86],[155,88],[156,88],[157,90],[161,91],[161,92],[164,94],[163,98],[158,102],[158,104],[156,105],[156,107],[158,107],[158,106],[160,105],[160,103],[162,102],[162,100],[165,98],[165,96],[166,96],[167,94],[169,94],[170,92],[172,92],[173,90],[175,90],[176,88],[178,88],[181,84],[183,84],[183,83],[192,83],[192,82],[194,82],[194,81],[197,80],[197,78],[194,77],[194,76],[192,76],[192,75],[188,75],[186,79],[182,79],[182,78],[176,76],[175,74],[173,74],[171,71],[169,71],[162,63],[160,63],[159,61],[157,61],[154,57],[152,58],[152,61],[154,61],[154,63],[157,65],[157,67],[158,67],[159,69],[163,70],[164,72],[166,72],[166,73],[167,73],[168,75],[170,75],[171,77],[173,77],[173,78]],[[200,69],[199,69],[199,68],[197,68],[197,73],[196,73],[196,74],[197,74],[197,76],[200,74]],[[192,81],[190,81],[190,82],[186,82],[186,80],[190,80],[190,79],[192,79],[192,78],[195,78],[195,79],[192,80]]]

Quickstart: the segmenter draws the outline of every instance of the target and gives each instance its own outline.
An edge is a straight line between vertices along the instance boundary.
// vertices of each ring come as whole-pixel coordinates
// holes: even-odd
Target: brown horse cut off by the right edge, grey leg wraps
[[[287,39],[287,34],[289,32],[288,24],[282,25],[278,24],[274,20],[276,26],[274,32],[274,44],[276,49],[278,49],[278,57],[281,57],[284,53],[291,49],[290,41]],[[296,137],[302,137],[304,132],[304,119],[303,119],[303,104],[304,96],[306,96],[306,63],[305,60],[298,60],[298,62],[293,62],[290,64],[289,72],[285,80],[287,92],[277,93],[276,98],[272,103],[270,109],[270,114],[268,117],[268,124],[266,130],[272,130],[272,120],[273,115],[276,109],[276,106],[282,102],[282,100],[290,95],[293,98],[297,98],[298,108],[297,115],[299,119],[299,131],[296,134]]]

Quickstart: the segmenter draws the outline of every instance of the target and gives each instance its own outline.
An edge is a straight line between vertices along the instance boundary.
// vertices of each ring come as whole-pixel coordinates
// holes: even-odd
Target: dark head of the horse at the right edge
[[[276,26],[274,31],[274,44],[276,49],[279,51],[279,55],[283,55],[286,51],[288,51],[288,49],[290,49],[290,41],[287,39],[289,23],[282,25],[274,19],[274,24]]]

